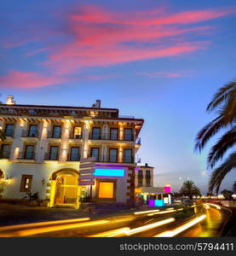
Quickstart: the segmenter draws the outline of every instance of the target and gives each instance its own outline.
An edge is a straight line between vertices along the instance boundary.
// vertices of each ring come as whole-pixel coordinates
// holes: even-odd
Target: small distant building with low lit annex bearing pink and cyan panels
[[[147,163],[135,167],[135,198],[137,201],[141,199],[151,207],[162,207],[171,203],[171,188],[170,184],[154,187],[153,170],[154,167],[148,166]]]

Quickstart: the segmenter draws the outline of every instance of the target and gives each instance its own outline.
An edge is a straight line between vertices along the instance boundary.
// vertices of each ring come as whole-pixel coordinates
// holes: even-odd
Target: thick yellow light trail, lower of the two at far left
[[[31,230],[16,231],[16,232],[14,232],[14,235],[32,236],[32,235],[60,231],[60,230],[71,230],[71,229],[89,227],[92,225],[107,224],[108,222],[110,222],[110,221],[104,219],[104,220],[95,220],[95,221],[89,221],[89,222],[79,223],[79,224],[63,224],[63,225],[56,225],[56,226],[52,226],[52,227],[43,227],[43,228],[37,228],[37,229],[31,229]]]

